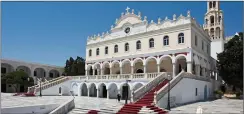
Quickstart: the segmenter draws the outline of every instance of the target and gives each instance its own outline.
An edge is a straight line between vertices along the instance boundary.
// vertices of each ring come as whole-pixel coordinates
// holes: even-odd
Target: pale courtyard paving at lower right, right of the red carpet
[[[243,100],[237,99],[218,99],[214,101],[197,102],[188,105],[172,108],[170,114],[190,114],[196,113],[197,107],[201,106],[203,114],[243,114]]]

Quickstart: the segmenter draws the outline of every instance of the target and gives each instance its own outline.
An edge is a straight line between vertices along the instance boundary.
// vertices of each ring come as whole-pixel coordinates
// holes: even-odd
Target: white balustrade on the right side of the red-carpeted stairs
[[[190,73],[185,73],[185,71],[182,70],[177,76],[170,80],[170,89],[172,89],[178,82],[180,82],[180,80],[183,78],[183,75],[185,74]],[[164,87],[162,87],[154,94],[154,104],[157,104],[157,101],[159,101],[168,92],[168,86],[169,84],[167,83]]]

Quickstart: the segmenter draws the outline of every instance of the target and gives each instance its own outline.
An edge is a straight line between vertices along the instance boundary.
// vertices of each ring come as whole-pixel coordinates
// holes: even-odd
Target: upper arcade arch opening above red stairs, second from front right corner
[[[172,59],[169,56],[160,59],[160,72],[173,72]]]

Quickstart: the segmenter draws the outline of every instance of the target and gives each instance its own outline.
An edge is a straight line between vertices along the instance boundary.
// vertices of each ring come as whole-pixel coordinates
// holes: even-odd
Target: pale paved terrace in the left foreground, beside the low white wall
[[[2,108],[23,107],[44,104],[63,104],[72,99],[72,96],[42,96],[42,97],[20,97],[13,94],[1,93]]]

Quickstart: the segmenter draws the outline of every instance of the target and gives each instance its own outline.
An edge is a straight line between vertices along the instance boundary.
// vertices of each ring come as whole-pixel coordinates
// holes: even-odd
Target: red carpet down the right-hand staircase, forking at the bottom
[[[117,114],[137,114],[143,106],[150,108],[154,112],[158,112],[158,114],[167,114],[168,113],[167,111],[164,111],[164,110],[152,105],[153,99],[154,99],[154,92],[160,90],[167,83],[168,83],[168,80],[164,80],[159,85],[154,87],[151,91],[149,91],[144,97],[142,97],[137,102],[124,105],[117,112]]]

